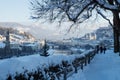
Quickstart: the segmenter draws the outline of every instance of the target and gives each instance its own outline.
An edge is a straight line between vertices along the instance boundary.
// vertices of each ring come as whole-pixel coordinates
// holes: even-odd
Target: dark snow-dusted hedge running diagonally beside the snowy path
[[[6,80],[64,80],[66,76],[69,76],[73,72],[77,72],[77,69],[83,69],[85,61],[88,59],[88,55],[92,58],[94,51],[88,51],[82,56],[69,56],[70,58],[64,57],[66,59],[59,60],[58,63],[50,61],[47,66],[37,67],[36,69],[28,72],[24,69],[22,73],[16,73],[14,75],[8,75]]]

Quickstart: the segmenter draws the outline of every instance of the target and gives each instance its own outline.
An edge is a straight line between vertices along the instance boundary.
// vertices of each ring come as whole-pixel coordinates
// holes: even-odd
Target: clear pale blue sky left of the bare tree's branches
[[[0,0],[0,22],[28,22],[30,0]]]

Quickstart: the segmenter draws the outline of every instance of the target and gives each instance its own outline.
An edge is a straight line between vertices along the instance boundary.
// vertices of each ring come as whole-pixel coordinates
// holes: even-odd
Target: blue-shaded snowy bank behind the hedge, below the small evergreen
[[[47,68],[50,65],[60,64],[63,60],[71,63],[75,58],[82,57],[90,51],[92,50],[86,51],[81,55],[51,55],[43,57],[39,54],[35,54],[0,60],[0,80],[5,80],[9,74],[14,75],[16,72],[22,73],[25,70],[34,71],[38,67]]]

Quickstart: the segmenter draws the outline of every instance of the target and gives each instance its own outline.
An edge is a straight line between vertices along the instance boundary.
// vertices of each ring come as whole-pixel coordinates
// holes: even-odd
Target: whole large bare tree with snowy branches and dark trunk
[[[120,0],[32,0],[30,3],[33,19],[60,23],[66,20],[74,24],[82,23],[93,16],[92,11],[96,10],[113,27],[114,52],[119,52]],[[112,12],[113,22],[102,13],[103,10]]]

